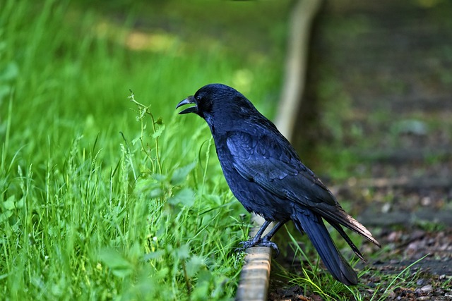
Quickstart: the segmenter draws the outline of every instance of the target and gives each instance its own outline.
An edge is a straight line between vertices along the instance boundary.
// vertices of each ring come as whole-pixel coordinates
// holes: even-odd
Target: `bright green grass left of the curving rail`
[[[224,82],[271,116],[282,52],[138,30],[141,6],[120,21],[69,1],[0,6],[0,299],[231,299],[244,209],[207,126],[174,108]]]

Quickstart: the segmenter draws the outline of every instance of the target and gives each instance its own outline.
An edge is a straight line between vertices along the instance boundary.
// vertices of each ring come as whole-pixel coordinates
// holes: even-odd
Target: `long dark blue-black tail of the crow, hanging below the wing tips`
[[[352,266],[340,254],[320,216],[310,210],[297,210],[292,221],[301,233],[306,233],[319,252],[320,258],[335,279],[345,285],[357,285],[358,277]]]

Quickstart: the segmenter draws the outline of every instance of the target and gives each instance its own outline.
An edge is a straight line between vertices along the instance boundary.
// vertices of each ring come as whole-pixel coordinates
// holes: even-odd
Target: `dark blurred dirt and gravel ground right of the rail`
[[[451,16],[451,1],[337,0],[316,19],[294,140],[383,246],[362,245],[365,300],[452,300]],[[270,300],[321,297],[292,286]]]

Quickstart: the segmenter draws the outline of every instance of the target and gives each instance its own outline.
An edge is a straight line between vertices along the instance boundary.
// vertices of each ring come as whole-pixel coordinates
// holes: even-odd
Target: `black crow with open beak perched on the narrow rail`
[[[270,239],[289,220],[309,240],[334,278],[346,285],[357,284],[357,274],[338,251],[323,219],[328,221],[364,260],[342,226],[380,244],[361,223],[347,214],[333,194],[309,170],[290,142],[243,94],[232,87],[211,84],[177,104],[194,104],[179,114],[196,113],[213,135],[222,171],[232,193],[249,212],[266,221],[244,248],[255,245],[278,246]],[[270,222],[277,222],[263,236]]]

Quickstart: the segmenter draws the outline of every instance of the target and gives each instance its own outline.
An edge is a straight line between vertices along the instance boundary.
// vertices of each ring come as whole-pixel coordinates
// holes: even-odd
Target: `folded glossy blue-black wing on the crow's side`
[[[335,206],[335,197],[302,164],[290,143],[272,134],[229,133],[227,147],[240,176],[278,197],[301,202],[307,207],[318,207],[321,203]]]

